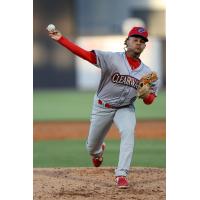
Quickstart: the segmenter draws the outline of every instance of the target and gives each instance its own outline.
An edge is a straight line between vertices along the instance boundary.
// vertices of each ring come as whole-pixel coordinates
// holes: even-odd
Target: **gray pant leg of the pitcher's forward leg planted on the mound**
[[[118,109],[114,123],[119,129],[121,142],[118,167],[115,170],[116,176],[127,176],[134,148],[134,131],[136,125],[135,111],[132,106]]]

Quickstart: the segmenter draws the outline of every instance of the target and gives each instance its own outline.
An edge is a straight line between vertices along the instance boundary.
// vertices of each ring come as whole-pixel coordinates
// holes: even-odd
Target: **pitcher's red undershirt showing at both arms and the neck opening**
[[[96,54],[93,51],[86,51],[85,49],[82,49],[81,47],[77,46],[76,44],[74,44],[73,42],[71,42],[63,36],[58,40],[58,43],[64,46],[65,48],[69,49],[72,53],[76,54],[77,56],[83,58],[84,60],[87,60],[92,64],[97,63]],[[141,64],[140,59],[136,60],[127,55],[126,58],[132,70],[137,69]],[[143,99],[143,102],[149,105],[153,102],[155,97],[155,94],[150,93],[145,99]]]

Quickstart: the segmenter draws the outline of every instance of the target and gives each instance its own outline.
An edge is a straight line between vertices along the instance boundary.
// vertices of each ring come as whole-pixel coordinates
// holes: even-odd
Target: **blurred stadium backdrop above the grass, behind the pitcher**
[[[95,89],[98,84],[98,69],[91,71],[90,66],[85,67],[89,63],[49,39],[45,28],[50,23],[87,50],[110,51],[123,51],[134,25],[146,26],[150,42],[143,60],[159,72],[161,87],[165,87],[163,0],[34,0],[33,19],[34,89]],[[86,74],[93,76],[88,80]]]

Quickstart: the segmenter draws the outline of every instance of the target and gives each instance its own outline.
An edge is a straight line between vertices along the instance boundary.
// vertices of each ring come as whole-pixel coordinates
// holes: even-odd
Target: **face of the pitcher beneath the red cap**
[[[133,51],[135,54],[141,54],[145,47],[145,40],[141,37],[129,37],[127,40],[128,51]]]

